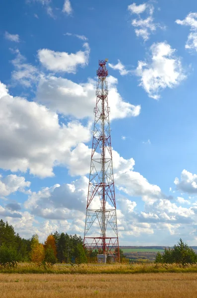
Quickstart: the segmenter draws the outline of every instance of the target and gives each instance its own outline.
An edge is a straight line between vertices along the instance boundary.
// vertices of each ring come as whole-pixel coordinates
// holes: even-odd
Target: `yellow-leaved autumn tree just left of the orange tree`
[[[44,246],[39,243],[38,235],[32,236],[30,258],[33,263],[42,263],[45,258]]]

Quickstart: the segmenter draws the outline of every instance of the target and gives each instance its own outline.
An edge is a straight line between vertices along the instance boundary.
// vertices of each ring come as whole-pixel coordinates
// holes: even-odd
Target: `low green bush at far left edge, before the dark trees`
[[[19,262],[21,259],[20,254],[17,252],[15,247],[6,246],[2,244],[0,246],[0,264],[5,265],[6,263],[16,265],[16,262]]]

